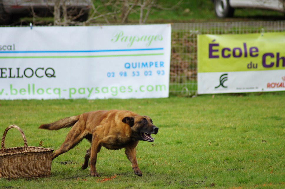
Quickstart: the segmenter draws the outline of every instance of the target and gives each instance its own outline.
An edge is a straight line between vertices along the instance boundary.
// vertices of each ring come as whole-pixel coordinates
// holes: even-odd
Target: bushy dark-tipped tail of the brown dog
[[[58,130],[66,127],[72,127],[79,120],[79,117],[80,115],[63,118],[54,123],[43,124],[39,126],[39,129]]]

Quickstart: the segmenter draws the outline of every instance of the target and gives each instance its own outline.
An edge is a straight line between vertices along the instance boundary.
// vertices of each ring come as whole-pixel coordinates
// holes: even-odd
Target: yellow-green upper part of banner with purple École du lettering
[[[198,72],[285,70],[285,32],[198,35]]]

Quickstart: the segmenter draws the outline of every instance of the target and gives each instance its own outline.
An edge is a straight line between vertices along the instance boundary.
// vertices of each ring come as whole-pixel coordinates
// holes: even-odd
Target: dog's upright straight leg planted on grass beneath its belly
[[[101,149],[101,144],[95,135],[92,138],[91,144],[91,154],[90,154],[90,175],[94,177],[100,177],[100,175],[96,171],[96,161],[97,161],[97,153]]]

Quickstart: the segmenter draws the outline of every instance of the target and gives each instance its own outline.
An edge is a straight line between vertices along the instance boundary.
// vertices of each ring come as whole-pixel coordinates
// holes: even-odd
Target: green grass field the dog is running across
[[[0,188],[285,188],[285,94],[203,95],[195,98],[0,100],[0,134],[16,124],[29,146],[57,149],[69,129],[40,124],[98,109],[127,109],[153,119],[153,143],[141,141],[135,176],[124,150],[102,148],[100,178],[81,169],[82,141],[52,162],[49,178],[0,179]],[[6,148],[23,146],[10,129]]]

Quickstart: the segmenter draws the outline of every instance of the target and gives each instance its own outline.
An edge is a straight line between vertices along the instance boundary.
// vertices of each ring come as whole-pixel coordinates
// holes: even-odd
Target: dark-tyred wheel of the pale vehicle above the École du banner
[[[229,0],[214,0],[214,6],[218,18],[233,16],[234,9],[230,6]]]

